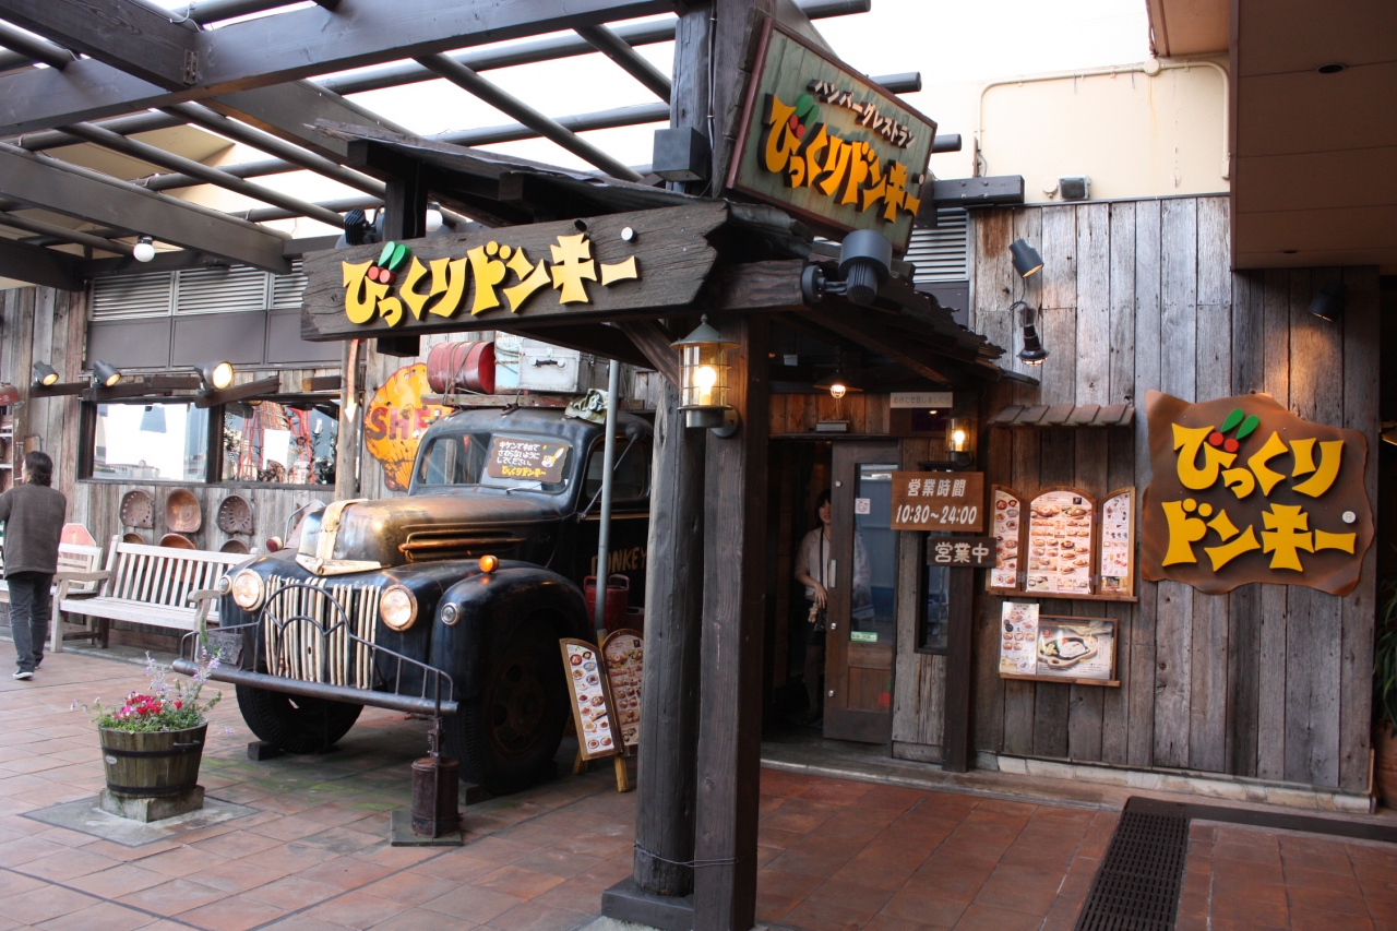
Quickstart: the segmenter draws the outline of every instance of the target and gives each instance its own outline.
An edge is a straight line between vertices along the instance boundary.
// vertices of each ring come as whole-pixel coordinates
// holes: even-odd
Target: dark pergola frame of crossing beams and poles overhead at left
[[[94,15],[94,3],[101,15]],[[631,180],[640,179],[647,166],[623,165],[580,133],[669,119],[671,80],[634,46],[672,39],[679,20],[606,25],[612,20],[664,13],[672,6],[664,0],[587,0],[564,10],[545,0],[511,4],[468,0],[454,4],[448,14],[439,0],[388,7],[373,0],[326,0],[316,8],[279,11],[285,6],[278,0],[204,0],[180,17],[149,0],[0,0],[4,46],[0,71],[10,71],[0,73],[0,138],[18,133],[0,143],[4,147],[0,148],[0,229],[32,233],[10,240],[25,249],[0,254],[0,275],[18,280],[42,275],[43,284],[81,287],[85,277],[112,267],[110,260],[101,259],[103,250],[122,257],[120,267],[129,267],[131,240],[140,235],[183,246],[179,259],[162,256],[162,266],[217,259],[284,270],[286,250],[275,242],[284,235],[257,229],[256,224],[307,217],[338,226],[344,211],[384,204],[386,185],[348,168],[344,140],[313,127],[317,122],[388,131],[402,127],[344,94],[446,77],[518,122],[443,134],[441,141],[485,145],[546,137],[604,173]],[[866,11],[870,0],[803,0],[799,6],[809,17],[819,18]],[[226,22],[258,13],[267,15]],[[212,24],[222,25],[208,29]],[[557,29],[573,34],[471,48]],[[592,52],[606,55],[659,101],[552,117],[479,74]],[[408,56],[419,60],[404,63]],[[374,64],[381,67],[312,80]],[[894,92],[921,87],[916,74],[879,80]],[[198,126],[268,158],[211,168],[130,138],[177,126]],[[73,180],[75,175],[87,182],[99,178],[98,172],[73,172],[71,165],[50,158],[6,158],[77,144],[95,144],[166,173],[102,178],[110,190],[119,192],[116,201],[140,205],[134,211],[103,210],[56,190],[82,186]],[[249,180],[295,171],[314,172],[358,193],[307,201]],[[46,183],[35,186],[35,178]],[[201,214],[205,229],[194,236],[189,229],[189,204],[159,192],[196,185],[214,185],[264,205],[222,214],[198,207],[196,212]],[[136,194],[137,187],[145,196]],[[140,200],[133,201],[134,197]],[[89,226],[70,231],[17,214],[29,208],[66,214]],[[465,219],[447,211],[451,226]],[[80,246],[84,256],[73,254],[73,246]],[[61,257],[36,263],[27,257],[27,249],[56,252]],[[292,247],[291,254],[295,253]],[[53,268],[66,271],[56,275]]]

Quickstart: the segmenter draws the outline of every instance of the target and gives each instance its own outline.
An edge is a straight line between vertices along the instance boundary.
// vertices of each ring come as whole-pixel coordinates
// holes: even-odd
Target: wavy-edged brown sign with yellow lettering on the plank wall
[[[1362,433],[1303,421],[1266,394],[1190,404],[1150,391],[1146,412],[1146,579],[1208,594],[1249,582],[1354,590],[1373,541]]]

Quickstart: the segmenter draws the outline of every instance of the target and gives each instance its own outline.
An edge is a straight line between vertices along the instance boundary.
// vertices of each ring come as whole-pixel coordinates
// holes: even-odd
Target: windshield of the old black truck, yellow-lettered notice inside
[[[439,436],[418,461],[418,482],[557,495],[567,489],[571,452],[571,446],[552,436],[507,433]]]

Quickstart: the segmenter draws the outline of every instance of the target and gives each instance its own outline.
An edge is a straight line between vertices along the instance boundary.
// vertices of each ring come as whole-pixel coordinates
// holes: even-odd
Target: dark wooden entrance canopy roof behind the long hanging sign
[[[888,386],[918,382],[968,386],[1002,377],[1025,380],[999,368],[996,362],[1004,352],[1000,347],[956,323],[950,310],[916,291],[909,267],[902,263],[897,263],[894,277],[869,306],[835,295],[809,299],[800,284],[806,266],[823,264],[833,275],[838,247],[816,240],[800,221],[775,207],[694,197],[387,130],[330,122],[321,122],[319,130],[342,140],[349,166],[386,182],[419,178],[432,199],[489,226],[581,221],[584,226],[609,229],[599,218],[624,214],[624,221],[637,222],[638,229],[636,217],[640,214],[676,211],[692,224],[704,224],[704,236],[717,252],[701,292],[683,306],[578,309],[577,305],[559,305],[527,316],[503,310],[479,316],[458,313],[414,324],[411,333],[500,330],[528,334],[673,377],[676,355],[669,342],[683,335],[680,329],[692,326],[690,317],[770,313],[778,327],[799,330],[831,349],[868,358],[876,379]],[[317,260],[328,257],[330,253],[312,256],[307,266],[314,267]],[[334,285],[338,281],[326,287]],[[312,291],[314,288],[312,282]],[[324,315],[320,317],[323,320]],[[665,320],[673,320],[673,331],[666,329]],[[307,310],[305,338],[352,338],[342,326],[334,333],[321,327],[323,323],[317,324],[316,315]],[[359,335],[393,333],[380,326]]]

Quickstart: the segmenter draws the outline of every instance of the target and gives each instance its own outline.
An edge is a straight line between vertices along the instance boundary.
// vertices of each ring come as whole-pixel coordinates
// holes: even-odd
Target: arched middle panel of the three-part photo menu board
[[[1030,594],[1090,596],[1091,533],[1097,505],[1070,488],[1053,488],[1028,505]]]

